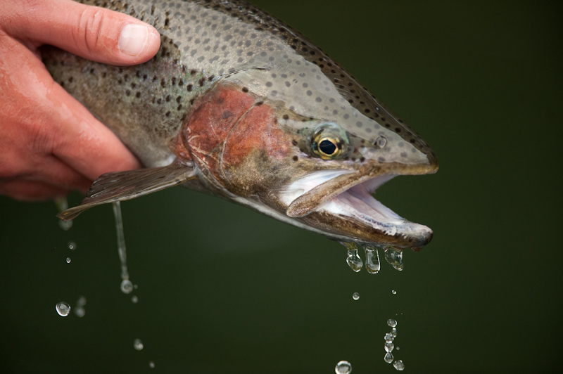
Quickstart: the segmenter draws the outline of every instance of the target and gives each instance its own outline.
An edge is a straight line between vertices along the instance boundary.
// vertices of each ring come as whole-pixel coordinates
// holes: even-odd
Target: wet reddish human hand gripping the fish
[[[106,172],[139,162],[53,81],[37,48],[134,65],[153,57],[158,32],[140,20],[70,0],[0,1],[0,194],[44,200],[87,191]]]

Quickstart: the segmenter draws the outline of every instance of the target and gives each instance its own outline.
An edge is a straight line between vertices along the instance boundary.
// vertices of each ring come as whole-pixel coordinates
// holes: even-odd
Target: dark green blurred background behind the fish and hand
[[[353,273],[337,243],[172,188],[122,204],[133,304],[119,288],[109,206],[63,231],[52,202],[2,197],[0,372],[334,373],[348,360],[354,374],[388,373],[388,318],[398,320],[393,354],[412,373],[554,372],[562,3],[254,3],[315,41],[436,150],[438,174],[377,191],[433,228],[432,243],[405,252],[402,272],[383,263],[377,275]],[[57,302],[75,306],[80,295],[83,318],[56,314]]]

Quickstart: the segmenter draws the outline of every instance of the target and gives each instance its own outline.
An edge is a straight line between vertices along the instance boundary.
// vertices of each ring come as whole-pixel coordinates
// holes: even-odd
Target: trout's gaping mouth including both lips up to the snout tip
[[[372,193],[397,175],[432,174],[437,169],[437,163],[389,163],[365,165],[356,171],[343,170],[341,175],[320,183],[293,200],[286,214],[306,220],[306,216],[314,212],[329,214],[341,222],[346,221],[346,225],[353,226],[353,233],[348,235],[350,241],[377,247],[393,246],[398,250],[405,247],[419,250],[432,239],[432,230],[400,217],[376,200]],[[313,216],[317,214],[311,214],[310,219],[313,219]]]

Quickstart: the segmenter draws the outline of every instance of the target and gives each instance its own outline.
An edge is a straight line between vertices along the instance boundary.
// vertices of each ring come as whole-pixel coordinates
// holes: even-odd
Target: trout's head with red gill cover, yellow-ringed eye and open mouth
[[[253,86],[271,86],[270,75],[234,73],[194,105],[176,149],[198,166],[205,187],[343,243],[398,250],[429,243],[430,228],[372,196],[394,176],[436,172],[429,146],[374,99],[363,113],[326,90],[304,91],[301,106],[291,105],[298,101],[283,91]]]

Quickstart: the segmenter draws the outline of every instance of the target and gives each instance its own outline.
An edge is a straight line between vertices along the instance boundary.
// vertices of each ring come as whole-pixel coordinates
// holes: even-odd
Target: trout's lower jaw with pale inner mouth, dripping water
[[[367,236],[369,236],[369,231],[377,231],[377,235],[384,238],[375,243],[358,238],[358,243],[383,247],[412,247],[413,249],[422,247],[431,240],[432,230],[427,226],[400,217],[372,196],[377,187],[391,178],[393,176],[378,176],[353,186],[324,202],[318,210],[336,216],[349,217],[358,224],[367,226]]]

